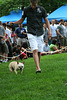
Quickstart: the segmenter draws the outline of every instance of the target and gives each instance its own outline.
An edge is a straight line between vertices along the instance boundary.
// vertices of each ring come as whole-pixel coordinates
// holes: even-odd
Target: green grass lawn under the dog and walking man
[[[0,64],[0,100],[67,100],[67,54],[41,57],[36,74],[33,58],[25,59],[23,74],[11,74]]]

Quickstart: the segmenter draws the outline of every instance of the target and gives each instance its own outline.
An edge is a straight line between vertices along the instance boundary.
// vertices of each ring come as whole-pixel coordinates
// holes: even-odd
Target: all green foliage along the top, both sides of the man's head
[[[67,3],[67,0],[38,0],[38,2],[48,13],[51,13]],[[29,4],[29,0],[0,0],[0,16],[8,15],[10,11],[19,9],[22,6],[26,7]]]

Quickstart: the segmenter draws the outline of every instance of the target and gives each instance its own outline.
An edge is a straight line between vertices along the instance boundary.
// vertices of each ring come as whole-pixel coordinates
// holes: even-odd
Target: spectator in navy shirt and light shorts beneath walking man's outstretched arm
[[[22,24],[19,24],[19,27],[16,28],[15,30],[15,34],[16,34],[16,40],[17,40],[17,45],[20,45],[22,46],[23,43],[27,43],[27,33],[26,33],[26,30],[25,28],[22,27]]]

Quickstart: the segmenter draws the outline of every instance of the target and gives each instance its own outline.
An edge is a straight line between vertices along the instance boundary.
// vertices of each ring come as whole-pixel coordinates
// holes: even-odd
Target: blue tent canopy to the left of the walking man
[[[0,21],[2,23],[5,22],[15,22],[19,20],[22,17],[22,10],[17,10],[17,11],[11,11],[9,15],[0,17]],[[27,19],[24,20],[23,24],[27,24]]]

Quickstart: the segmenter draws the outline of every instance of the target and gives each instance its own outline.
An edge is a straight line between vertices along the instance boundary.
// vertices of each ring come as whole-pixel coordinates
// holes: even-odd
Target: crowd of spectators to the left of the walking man
[[[0,62],[32,57],[27,32],[22,24],[17,28],[0,21]]]

